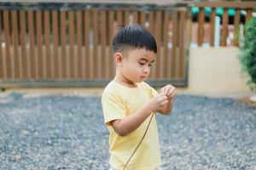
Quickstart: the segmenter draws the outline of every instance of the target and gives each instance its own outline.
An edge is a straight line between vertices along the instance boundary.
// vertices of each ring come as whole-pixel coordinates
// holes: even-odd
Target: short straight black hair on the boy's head
[[[157,45],[153,35],[143,26],[119,26],[119,31],[113,37],[113,53],[123,48],[146,48],[157,53]]]

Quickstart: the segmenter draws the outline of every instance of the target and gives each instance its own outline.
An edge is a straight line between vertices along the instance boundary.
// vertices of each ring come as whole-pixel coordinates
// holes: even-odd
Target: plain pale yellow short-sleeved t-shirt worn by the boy
[[[151,116],[140,127],[128,135],[121,137],[113,130],[110,123],[115,119],[129,116],[144,105],[157,92],[146,82],[137,83],[137,88],[127,88],[118,82],[109,82],[102,94],[102,110],[104,122],[109,130],[110,166],[116,170],[123,169],[126,161],[143,138]],[[160,166],[160,144],[155,116],[148,127],[148,132],[131,157],[126,169],[154,170]]]

